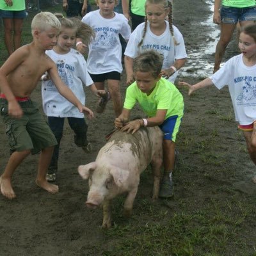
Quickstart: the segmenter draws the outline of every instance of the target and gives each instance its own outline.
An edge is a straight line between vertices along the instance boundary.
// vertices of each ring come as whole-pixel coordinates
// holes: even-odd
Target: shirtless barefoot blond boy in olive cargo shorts
[[[55,15],[49,12],[38,13],[31,23],[33,42],[13,52],[0,68],[0,114],[12,151],[0,177],[0,188],[1,193],[9,199],[16,197],[12,188],[15,169],[30,153],[40,151],[36,185],[49,193],[58,192],[58,186],[45,179],[57,142],[44,117],[29,98],[46,71],[63,97],[80,112],[86,113],[89,118],[93,117],[93,112],[83,106],[61,81],[56,64],[45,54],[46,50],[51,50],[56,44],[60,28],[60,21]]]

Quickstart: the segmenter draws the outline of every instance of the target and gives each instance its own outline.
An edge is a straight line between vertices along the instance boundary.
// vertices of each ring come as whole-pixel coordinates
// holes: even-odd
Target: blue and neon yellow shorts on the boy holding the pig
[[[182,116],[170,116],[164,120],[163,124],[159,125],[160,129],[164,133],[164,140],[172,140],[175,142],[177,133],[179,132],[181,120]]]

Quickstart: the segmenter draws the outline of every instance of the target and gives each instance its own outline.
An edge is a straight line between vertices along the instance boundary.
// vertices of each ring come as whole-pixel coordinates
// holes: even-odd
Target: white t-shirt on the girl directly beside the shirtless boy
[[[54,50],[46,51],[46,54],[56,63],[61,80],[85,104],[83,84],[90,86],[93,81],[87,72],[83,55],[74,49],[70,49],[67,54],[58,54]],[[60,95],[51,80],[42,81],[42,99],[47,116],[84,118],[76,106]]]

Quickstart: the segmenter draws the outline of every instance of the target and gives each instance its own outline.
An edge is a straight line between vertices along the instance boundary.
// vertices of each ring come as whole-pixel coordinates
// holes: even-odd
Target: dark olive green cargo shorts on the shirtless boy
[[[0,99],[0,111],[4,121],[6,135],[11,150],[23,151],[31,150],[31,154],[36,154],[42,148],[57,145],[54,134],[47,124],[44,116],[36,107],[35,102],[19,102],[23,111],[20,119],[8,115],[8,102],[6,99]]]

